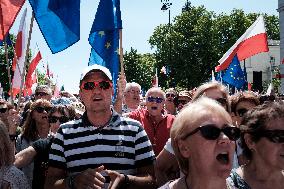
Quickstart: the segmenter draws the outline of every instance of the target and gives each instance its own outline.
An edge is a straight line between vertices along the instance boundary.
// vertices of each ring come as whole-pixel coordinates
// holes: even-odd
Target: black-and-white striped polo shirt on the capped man
[[[135,175],[137,168],[153,165],[155,155],[141,124],[112,112],[101,128],[88,121],[86,112],[82,119],[61,125],[51,145],[49,166],[70,174],[104,165]]]

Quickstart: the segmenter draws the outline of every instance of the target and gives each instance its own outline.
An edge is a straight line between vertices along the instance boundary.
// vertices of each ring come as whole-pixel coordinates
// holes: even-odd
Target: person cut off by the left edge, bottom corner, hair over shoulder
[[[0,121],[0,188],[30,189],[24,173],[13,166],[14,147],[10,142],[7,126]]]

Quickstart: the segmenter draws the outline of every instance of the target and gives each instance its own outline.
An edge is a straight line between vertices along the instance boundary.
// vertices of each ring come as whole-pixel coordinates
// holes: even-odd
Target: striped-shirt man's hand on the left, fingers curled
[[[87,169],[75,177],[75,188],[97,189],[103,188],[105,184],[105,177],[100,172],[104,170],[101,165],[96,169]]]

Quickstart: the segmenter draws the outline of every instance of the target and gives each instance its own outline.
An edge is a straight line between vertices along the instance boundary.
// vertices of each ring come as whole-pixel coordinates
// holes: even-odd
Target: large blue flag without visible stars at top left
[[[80,0],[29,0],[51,52],[65,50],[80,39]]]

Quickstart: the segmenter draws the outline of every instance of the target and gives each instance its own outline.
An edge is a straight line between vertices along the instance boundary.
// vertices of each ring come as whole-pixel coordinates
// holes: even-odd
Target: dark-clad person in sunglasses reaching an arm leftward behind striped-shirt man
[[[14,165],[17,168],[28,166],[34,162],[33,170],[33,189],[43,189],[46,171],[48,168],[48,155],[53,136],[56,134],[60,124],[73,120],[69,114],[69,107],[66,105],[53,106],[49,112],[48,120],[50,124],[50,136],[45,139],[39,139],[32,143],[28,148],[18,152],[15,156]]]

